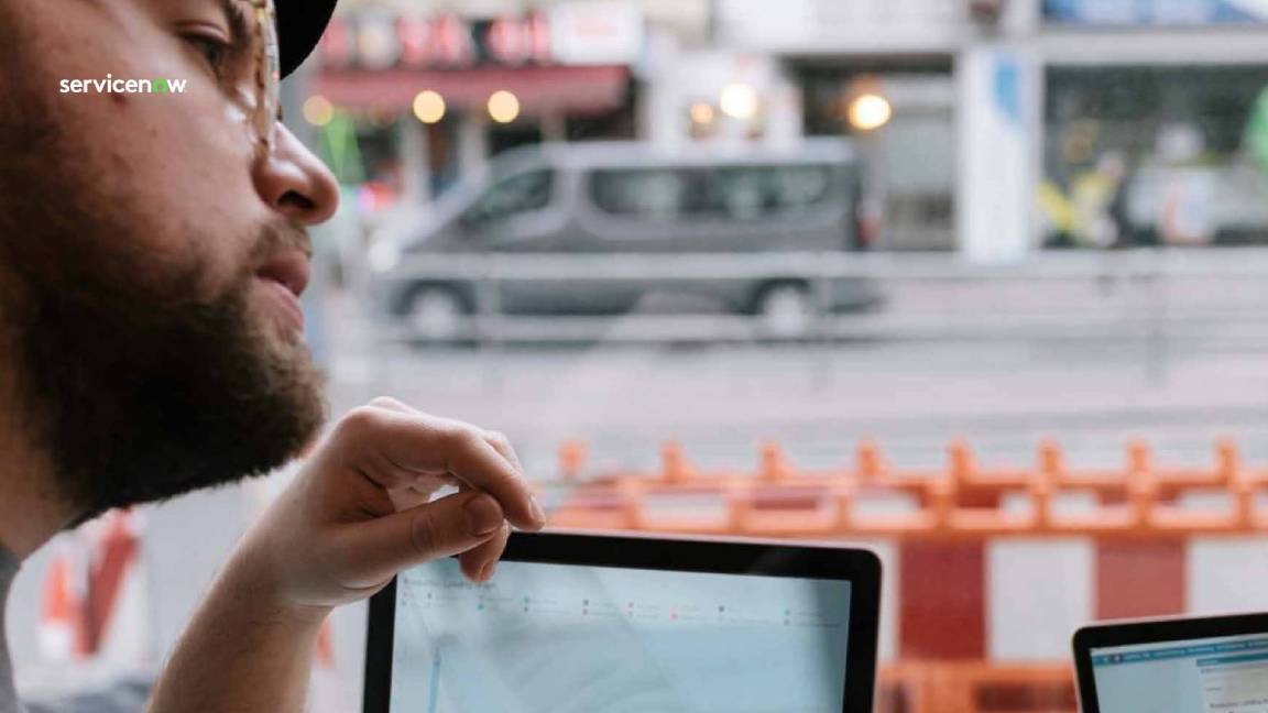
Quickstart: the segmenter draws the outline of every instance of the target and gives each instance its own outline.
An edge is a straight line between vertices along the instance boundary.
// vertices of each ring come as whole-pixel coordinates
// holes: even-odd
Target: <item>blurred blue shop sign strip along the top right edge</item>
[[[1044,0],[1044,19],[1071,25],[1193,27],[1257,24],[1263,0]]]

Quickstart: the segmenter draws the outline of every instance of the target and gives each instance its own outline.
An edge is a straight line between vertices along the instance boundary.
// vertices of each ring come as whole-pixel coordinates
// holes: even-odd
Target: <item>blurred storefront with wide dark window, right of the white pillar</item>
[[[1268,8],[1046,0],[1040,241],[1268,242]]]

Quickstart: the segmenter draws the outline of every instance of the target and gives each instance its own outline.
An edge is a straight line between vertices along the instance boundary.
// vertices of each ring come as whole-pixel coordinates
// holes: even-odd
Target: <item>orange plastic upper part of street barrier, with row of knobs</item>
[[[1127,444],[1122,468],[1071,468],[1055,443],[1044,443],[1032,468],[985,468],[962,442],[947,450],[941,469],[898,471],[880,449],[862,443],[852,467],[806,471],[794,467],[779,443],[762,444],[749,472],[695,468],[677,442],[661,449],[654,473],[592,473],[586,447],[560,449],[560,481],[569,492],[552,524],[582,529],[638,529],[687,534],[757,537],[970,537],[1090,534],[1244,534],[1268,529],[1255,496],[1268,491],[1268,471],[1241,463],[1236,445],[1216,444],[1206,468],[1164,468],[1144,442]],[[549,487],[550,482],[538,483]],[[1191,494],[1220,494],[1221,509],[1192,509]],[[1088,494],[1096,506],[1063,509],[1063,496]],[[649,501],[715,496],[720,513],[682,509],[658,513]],[[875,511],[869,502],[905,499],[907,511]],[[1018,505],[1025,505],[1021,507]]]

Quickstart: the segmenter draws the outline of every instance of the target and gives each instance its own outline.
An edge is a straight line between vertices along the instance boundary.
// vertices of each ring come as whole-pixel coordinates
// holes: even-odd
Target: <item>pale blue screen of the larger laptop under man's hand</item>
[[[393,713],[839,713],[851,585],[503,561],[403,572]]]

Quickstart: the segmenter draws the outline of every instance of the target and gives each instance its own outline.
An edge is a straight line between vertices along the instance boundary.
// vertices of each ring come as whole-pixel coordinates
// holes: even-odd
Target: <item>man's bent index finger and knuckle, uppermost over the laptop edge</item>
[[[377,485],[393,490],[425,476],[451,476],[497,499],[515,525],[540,529],[545,524],[505,436],[402,409],[375,400],[350,412],[336,429],[347,458]]]

